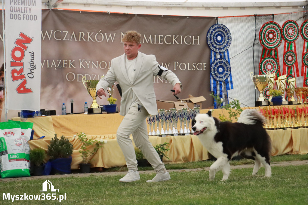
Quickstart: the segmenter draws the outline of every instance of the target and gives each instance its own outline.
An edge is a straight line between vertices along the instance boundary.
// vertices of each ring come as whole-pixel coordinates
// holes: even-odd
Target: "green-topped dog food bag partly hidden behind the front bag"
[[[9,120],[9,122],[11,122],[13,120]],[[26,154],[26,160],[28,162],[28,167],[30,170],[30,146],[28,144],[28,141],[30,140],[31,137],[31,131],[32,131],[32,127],[33,127],[33,123],[25,123],[25,122],[21,122],[21,121],[14,121],[19,123],[20,125],[20,129],[21,129],[21,138],[23,139],[24,143],[25,143],[25,154]]]

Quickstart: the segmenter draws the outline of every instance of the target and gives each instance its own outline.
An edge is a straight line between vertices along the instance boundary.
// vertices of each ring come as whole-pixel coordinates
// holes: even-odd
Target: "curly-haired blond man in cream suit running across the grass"
[[[160,66],[154,55],[146,55],[138,50],[141,35],[136,31],[125,33],[124,54],[111,60],[111,67],[96,86],[97,96],[106,96],[105,89],[115,81],[122,89],[120,115],[124,116],[117,130],[117,142],[124,154],[128,173],[120,182],[133,182],[140,179],[135,150],[129,136],[154,168],[156,176],[147,182],[160,182],[170,179],[164,163],[148,140],[146,118],[157,114],[157,104],[153,87],[153,76],[160,75],[167,79],[175,90],[181,92],[181,83],[172,71]],[[170,87],[171,88],[171,87]],[[102,98],[101,98],[102,99]]]

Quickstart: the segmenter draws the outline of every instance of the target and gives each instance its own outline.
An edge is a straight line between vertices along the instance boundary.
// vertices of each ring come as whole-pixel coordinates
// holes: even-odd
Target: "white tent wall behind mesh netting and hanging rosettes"
[[[298,26],[307,19],[306,11],[270,14],[270,15],[254,15],[254,16],[233,16],[218,17],[217,23],[227,26],[232,35],[232,42],[229,47],[231,73],[233,78],[233,90],[228,91],[229,102],[237,98],[242,107],[254,107],[255,101],[260,93],[250,79],[250,73],[259,74],[259,63],[262,52],[262,45],[259,41],[259,32],[261,26],[268,21],[275,21],[280,26],[287,20],[294,20]],[[278,57],[280,70],[283,68],[283,48],[284,40],[278,47]],[[301,73],[302,67],[302,50],[304,40],[299,35],[296,43],[298,68]],[[302,87],[304,77],[296,77],[296,84]]]

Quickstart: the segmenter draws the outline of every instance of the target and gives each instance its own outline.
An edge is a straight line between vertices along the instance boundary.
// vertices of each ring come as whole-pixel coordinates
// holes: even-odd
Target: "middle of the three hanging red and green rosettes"
[[[295,41],[299,37],[299,26],[294,20],[288,20],[282,25],[282,38],[285,41],[283,48],[282,75],[292,74],[299,77],[298,61]],[[292,59],[291,59],[292,58]],[[290,65],[292,62],[292,65]]]

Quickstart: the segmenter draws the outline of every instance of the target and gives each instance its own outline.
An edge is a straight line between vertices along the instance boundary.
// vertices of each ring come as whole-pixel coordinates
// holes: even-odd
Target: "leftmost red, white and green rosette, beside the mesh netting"
[[[262,68],[267,70],[275,70],[275,73],[277,73],[277,77],[280,76],[280,69],[279,69],[279,57],[278,57],[278,47],[280,46],[282,42],[282,35],[281,35],[281,27],[278,23],[274,21],[269,21],[263,24],[263,26],[260,29],[259,33],[259,40],[261,45],[263,46],[260,64],[259,64],[259,74],[262,74]],[[266,59],[266,57],[271,57],[270,59]],[[273,62],[276,65],[274,67],[270,67],[269,64],[267,64],[267,67],[265,66],[265,63],[268,63],[269,61]],[[265,70],[263,70],[265,71]],[[264,73],[266,74],[266,73]]]

